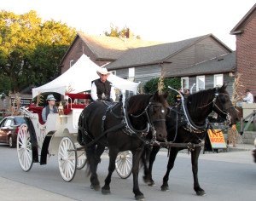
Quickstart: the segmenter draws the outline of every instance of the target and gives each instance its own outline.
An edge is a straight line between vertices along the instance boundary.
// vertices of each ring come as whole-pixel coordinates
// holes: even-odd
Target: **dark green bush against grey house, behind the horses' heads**
[[[158,82],[159,78],[153,78],[148,80],[147,83],[144,84],[143,90],[147,94],[154,94],[155,91],[158,90]],[[169,89],[168,86],[171,86],[173,89],[178,89],[181,87],[181,79],[180,78],[164,78],[164,89],[163,93],[168,91],[169,96],[167,98],[167,101],[170,105],[174,105],[174,95],[177,94],[177,92],[173,91],[172,89]]]

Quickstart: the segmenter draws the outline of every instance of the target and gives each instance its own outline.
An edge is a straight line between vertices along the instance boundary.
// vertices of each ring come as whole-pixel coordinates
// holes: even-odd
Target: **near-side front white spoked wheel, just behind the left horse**
[[[76,173],[77,152],[70,137],[63,137],[59,146],[58,162],[61,176],[64,181],[72,181]]]

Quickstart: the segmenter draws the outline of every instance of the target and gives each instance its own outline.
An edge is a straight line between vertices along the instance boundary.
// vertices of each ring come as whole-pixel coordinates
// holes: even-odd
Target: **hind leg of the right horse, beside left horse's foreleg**
[[[148,168],[147,166],[144,166],[144,176],[143,176],[143,181],[145,183],[148,184],[148,186],[150,187],[154,187],[155,183],[154,180],[152,178],[152,169],[153,169],[153,164],[154,164],[154,160],[156,157],[156,154],[159,152],[160,150],[160,146],[154,146],[152,148],[152,151],[149,153],[149,164],[148,164]],[[146,164],[146,163],[145,163]],[[144,164],[144,165],[145,165]],[[146,164],[147,165],[147,164]],[[146,167],[146,168],[145,168]]]

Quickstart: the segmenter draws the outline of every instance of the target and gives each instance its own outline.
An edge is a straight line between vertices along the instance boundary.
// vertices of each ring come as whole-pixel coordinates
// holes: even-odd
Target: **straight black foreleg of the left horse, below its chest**
[[[142,157],[143,150],[143,148],[137,148],[135,152],[132,152],[133,193],[137,200],[145,199],[143,192],[140,191],[138,186],[139,161]]]

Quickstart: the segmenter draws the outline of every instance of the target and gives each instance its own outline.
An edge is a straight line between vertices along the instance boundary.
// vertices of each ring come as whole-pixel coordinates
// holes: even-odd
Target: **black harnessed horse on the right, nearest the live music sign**
[[[172,141],[174,144],[190,142],[195,145],[195,147],[191,148],[189,151],[191,152],[192,171],[194,175],[194,190],[197,195],[206,194],[199,185],[197,172],[198,158],[201,152],[201,142],[205,139],[207,134],[206,120],[208,115],[214,111],[217,112],[222,118],[227,119],[230,125],[238,122],[236,109],[232,105],[230,95],[225,89],[226,86],[223,85],[221,88],[202,90],[193,95],[189,95],[189,97],[184,101],[184,110],[187,111],[187,118],[184,116],[185,112],[181,112],[178,109],[179,106],[172,108],[171,112],[166,116],[166,127],[168,132],[167,140]],[[189,119],[189,121],[187,119]],[[182,149],[184,149],[184,147],[171,146],[169,150],[170,155],[166,175],[163,178],[163,184],[161,186],[162,191],[168,190],[170,171],[174,166],[177,152]],[[152,151],[149,152],[149,164],[146,163],[146,160],[143,161],[143,179],[146,183],[148,183],[148,186],[154,186],[154,181],[152,179],[152,168],[155,156],[159,150],[160,146],[154,146]]]

